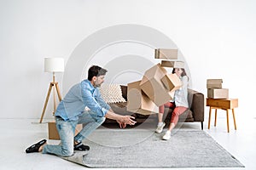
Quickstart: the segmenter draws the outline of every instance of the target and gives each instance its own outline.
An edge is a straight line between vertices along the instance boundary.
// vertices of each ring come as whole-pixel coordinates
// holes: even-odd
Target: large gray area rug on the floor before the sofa
[[[85,167],[244,167],[202,130],[179,129],[168,141],[161,140],[162,135],[131,129],[96,130],[84,141],[90,151],[62,158]]]

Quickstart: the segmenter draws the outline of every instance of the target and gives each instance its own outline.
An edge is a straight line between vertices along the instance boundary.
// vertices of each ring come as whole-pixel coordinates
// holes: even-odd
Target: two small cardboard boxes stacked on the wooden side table
[[[229,89],[222,88],[222,79],[207,79],[207,97],[211,99],[229,99]]]

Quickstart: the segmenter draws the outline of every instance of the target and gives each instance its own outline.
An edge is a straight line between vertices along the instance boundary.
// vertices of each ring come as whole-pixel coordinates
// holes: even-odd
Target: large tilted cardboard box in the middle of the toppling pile
[[[148,98],[154,101],[157,106],[164,105],[173,99],[174,92],[166,89],[161,78],[165,77],[167,71],[160,64],[154,65],[144,73],[140,88],[147,94]]]

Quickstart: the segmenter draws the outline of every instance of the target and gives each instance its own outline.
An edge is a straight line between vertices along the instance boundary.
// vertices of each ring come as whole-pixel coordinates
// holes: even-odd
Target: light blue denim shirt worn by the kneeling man
[[[92,86],[89,80],[75,84],[58,105],[55,116],[61,116],[64,121],[77,121],[87,106],[90,114],[105,116],[110,106],[102,99],[98,88]]]

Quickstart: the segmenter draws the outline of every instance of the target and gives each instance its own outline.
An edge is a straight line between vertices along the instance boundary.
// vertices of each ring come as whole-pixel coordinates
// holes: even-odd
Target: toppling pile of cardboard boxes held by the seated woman
[[[143,79],[128,83],[127,111],[142,115],[159,112],[159,106],[173,99],[175,90],[182,87],[176,74],[168,74],[164,67],[183,68],[182,61],[177,61],[177,49],[155,49],[155,59],[162,60],[145,71]]]

